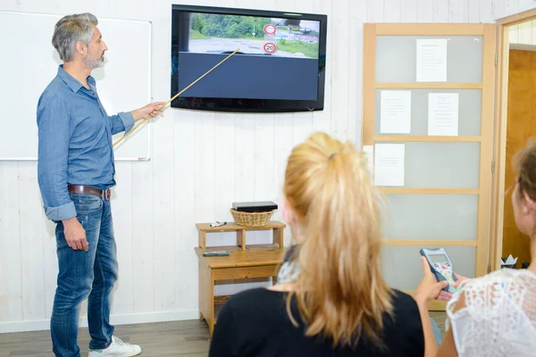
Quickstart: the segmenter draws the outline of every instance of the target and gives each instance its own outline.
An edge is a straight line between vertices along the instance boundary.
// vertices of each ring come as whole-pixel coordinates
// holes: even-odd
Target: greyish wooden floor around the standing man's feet
[[[444,331],[445,312],[431,312],[431,317]],[[115,328],[115,335],[141,345],[141,355],[151,357],[205,357],[210,346],[206,323],[198,320],[122,325]],[[88,355],[88,343],[88,328],[80,328],[82,356]],[[54,357],[49,331],[0,334],[0,357],[15,356]]]

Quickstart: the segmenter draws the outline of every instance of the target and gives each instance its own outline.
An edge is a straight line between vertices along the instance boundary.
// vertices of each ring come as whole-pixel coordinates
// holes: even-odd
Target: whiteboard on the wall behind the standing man
[[[0,12],[0,161],[38,159],[37,105],[39,95],[63,62],[52,46],[61,15]],[[108,115],[130,112],[151,102],[151,22],[98,19],[108,46],[105,66],[92,71],[96,90]],[[117,161],[150,158],[150,125],[144,125],[117,145]],[[124,133],[113,136],[113,142]]]

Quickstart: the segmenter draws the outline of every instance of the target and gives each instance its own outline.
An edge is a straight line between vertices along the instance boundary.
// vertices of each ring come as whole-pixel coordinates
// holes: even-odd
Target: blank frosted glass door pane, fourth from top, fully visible
[[[385,195],[387,239],[476,239],[478,195]],[[426,244],[423,242],[423,244]]]

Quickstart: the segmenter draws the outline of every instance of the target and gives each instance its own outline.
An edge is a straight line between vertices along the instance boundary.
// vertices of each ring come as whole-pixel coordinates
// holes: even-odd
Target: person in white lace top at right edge
[[[515,156],[512,192],[517,228],[531,239],[536,256],[536,142]],[[424,278],[415,293],[421,316],[445,282],[438,283],[423,260]],[[448,332],[438,347],[423,320],[426,357],[536,356],[536,263],[527,270],[505,269],[465,279],[447,304]]]

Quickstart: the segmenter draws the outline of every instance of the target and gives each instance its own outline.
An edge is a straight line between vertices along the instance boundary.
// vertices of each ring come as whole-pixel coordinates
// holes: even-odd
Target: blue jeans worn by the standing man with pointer
[[[80,303],[88,298],[89,348],[112,343],[110,325],[112,289],[117,280],[116,245],[110,201],[96,195],[70,194],[77,218],[86,230],[88,252],[67,245],[63,223],[56,222],[59,273],[50,331],[56,356],[80,357],[77,345]]]

